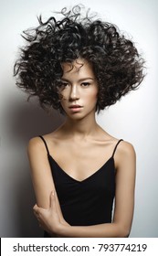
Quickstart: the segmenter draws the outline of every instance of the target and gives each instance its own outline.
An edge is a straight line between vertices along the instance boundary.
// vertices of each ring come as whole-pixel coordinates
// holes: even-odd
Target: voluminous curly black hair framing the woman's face
[[[62,112],[58,86],[63,62],[79,58],[90,62],[99,84],[98,112],[142,82],[144,60],[132,40],[89,11],[82,16],[79,5],[69,11],[63,8],[60,20],[51,16],[43,22],[39,16],[39,26],[24,31],[27,44],[14,66],[16,85],[29,93],[28,98],[36,95],[43,108]]]

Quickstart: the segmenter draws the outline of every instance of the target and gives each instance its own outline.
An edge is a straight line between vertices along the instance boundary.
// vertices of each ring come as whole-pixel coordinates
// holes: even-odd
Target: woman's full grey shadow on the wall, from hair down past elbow
[[[14,191],[10,208],[15,215],[15,228],[12,237],[43,237],[43,230],[38,228],[32,207],[36,199],[29,174],[26,145],[30,138],[39,134],[51,133],[64,122],[64,117],[57,111],[44,112],[37,102],[13,100],[5,110],[6,146],[10,150],[11,166],[7,179]],[[16,150],[15,150],[16,149]],[[10,175],[11,174],[11,175]],[[12,206],[13,205],[13,206]],[[8,210],[8,209],[6,209]],[[9,209],[10,210],[10,209]],[[12,210],[12,209],[11,209]],[[11,232],[12,233],[12,232]],[[6,237],[10,237],[6,234]]]

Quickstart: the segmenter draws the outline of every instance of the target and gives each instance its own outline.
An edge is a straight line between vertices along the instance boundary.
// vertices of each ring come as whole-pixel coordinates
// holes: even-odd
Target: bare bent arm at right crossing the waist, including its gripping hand
[[[56,198],[51,197],[52,203],[49,213],[41,215],[41,219],[47,219],[49,227],[61,237],[127,237],[132,226],[134,208],[135,187],[135,152],[131,144],[122,142],[115,154],[116,165],[116,195],[115,209],[112,223],[93,226],[63,226],[56,221],[53,224],[53,213],[56,215]],[[42,214],[42,209],[36,209]]]

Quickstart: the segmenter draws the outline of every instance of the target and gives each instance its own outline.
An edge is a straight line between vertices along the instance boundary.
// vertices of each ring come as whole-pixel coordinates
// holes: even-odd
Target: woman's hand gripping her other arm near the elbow
[[[35,205],[33,209],[39,222],[39,227],[46,230],[49,234],[58,234],[62,226],[68,224],[65,219],[59,218],[54,191],[50,194],[49,208],[39,208]]]

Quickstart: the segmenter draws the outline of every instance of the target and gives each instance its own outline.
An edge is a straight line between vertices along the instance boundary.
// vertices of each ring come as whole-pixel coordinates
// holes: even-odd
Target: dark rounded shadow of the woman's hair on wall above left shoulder
[[[8,133],[23,142],[39,134],[51,133],[64,122],[64,116],[58,111],[46,112],[37,101],[12,101],[6,114],[10,124],[7,124]]]

